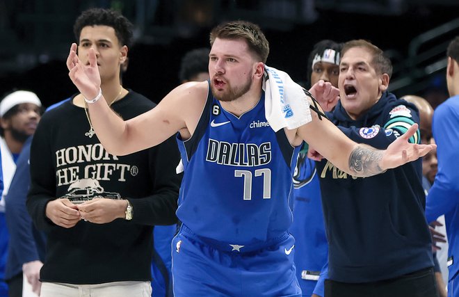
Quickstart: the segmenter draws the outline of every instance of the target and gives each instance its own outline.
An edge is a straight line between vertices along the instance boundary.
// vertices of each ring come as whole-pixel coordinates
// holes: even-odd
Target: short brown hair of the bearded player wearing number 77
[[[214,45],[216,38],[239,39],[247,42],[249,49],[266,63],[269,55],[269,42],[257,24],[245,21],[227,22],[216,26],[210,33],[210,45]]]

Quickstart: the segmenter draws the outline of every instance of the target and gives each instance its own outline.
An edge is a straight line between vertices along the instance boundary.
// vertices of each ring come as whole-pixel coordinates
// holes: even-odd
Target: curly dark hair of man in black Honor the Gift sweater
[[[120,45],[127,45],[127,47],[132,45],[134,25],[116,10],[90,8],[83,11],[73,26],[77,42],[79,42],[81,30],[86,26],[110,26],[115,29],[115,35]]]

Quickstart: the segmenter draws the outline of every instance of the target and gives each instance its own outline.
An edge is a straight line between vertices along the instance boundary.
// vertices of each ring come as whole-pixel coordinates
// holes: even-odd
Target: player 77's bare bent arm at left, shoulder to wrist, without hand
[[[154,109],[130,120],[122,120],[105,100],[90,104],[90,118],[107,152],[120,156],[159,145],[177,131],[192,135],[206,97],[206,81],[185,83],[166,95]]]

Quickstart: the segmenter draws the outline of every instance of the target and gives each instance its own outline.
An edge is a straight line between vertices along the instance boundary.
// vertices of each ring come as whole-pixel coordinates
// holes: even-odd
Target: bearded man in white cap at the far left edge
[[[10,296],[22,295],[22,264],[25,262],[19,263],[19,261],[15,261],[16,252],[18,252],[15,250],[17,247],[15,235],[19,231],[19,227],[15,228],[15,224],[10,221],[10,218],[15,219],[14,210],[9,216],[5,212],[6,196],[9,193],[10,185],[13,184],[13,176],[17,182],[26,182],[26,179],[29,178],[29,171],[21,171],[18,175],[15,175],[16,163],[27,138],[35,132],[41,113],[42,103],[40,99],[35,93],[26,90],[17,90],[10,93],[0,102],[0,149],[3,168],[3,193],[0,201],[0,296],[8,296],[5,280],[8,282],[8,287],[10,287]],[[17,188],[15,187],[11,188],[11,190],[13,193],[8,195],[10,199],[13,199],[13,197],[16,199],[16,195],[24,194],[17,193]],[[8,225],[6,220],[8,220]],[[13,239],[10,244],[8,243],[8,229],[12,233]],[[27,229],[31,231],[30,222]]]

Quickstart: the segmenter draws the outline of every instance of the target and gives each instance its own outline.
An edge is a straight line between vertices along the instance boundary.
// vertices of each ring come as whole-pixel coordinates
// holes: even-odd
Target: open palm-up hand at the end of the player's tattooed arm
[[[437,145],[418,145],[416,143],[409,143],[408,139],[416,133],[417,127],[417,124],[412,125],[405,134],[398,137],[396,141],[387,147],[383,159],[380,161],[380,167],[383,168],[383,170],[396,168],[405,163],[417,160],[437,147]]]

